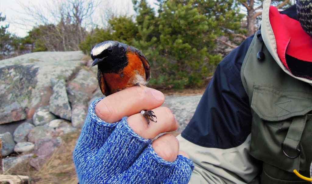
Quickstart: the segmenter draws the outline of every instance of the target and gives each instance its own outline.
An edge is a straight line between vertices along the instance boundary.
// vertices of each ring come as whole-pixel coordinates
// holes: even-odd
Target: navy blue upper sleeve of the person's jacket
[[[241,82],[241,65],[253,36],[217,66],[193,118],[182,132],[188,141],[209,148],[241,145],[251,133],[251,110]]]

